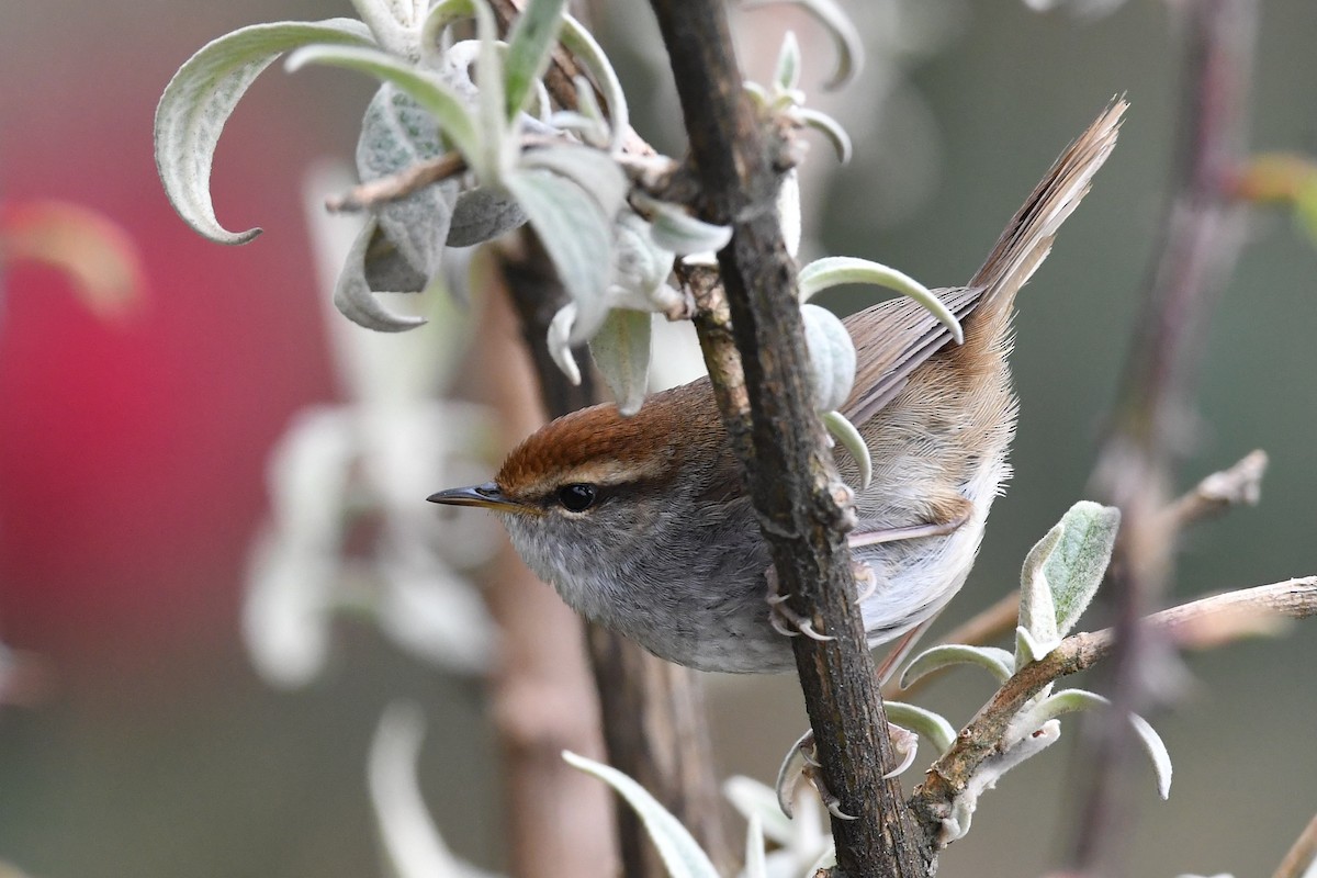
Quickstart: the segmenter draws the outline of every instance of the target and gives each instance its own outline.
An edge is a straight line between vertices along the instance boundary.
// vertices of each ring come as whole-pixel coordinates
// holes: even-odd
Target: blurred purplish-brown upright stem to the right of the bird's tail
[[[1158,606],[1173,566],[1175,521],[1159,512],[1169,499],[1173,463],[1184,446],[1197,354],[1208,316],[1241,242],[1239,211],[1229,192],[1241,163],[1258,0],[1200,0],[1184,8],[1187,67],[1179,180],[1150,275],[1142,328],[1122,382],[1113,429],[1094,469],[1100,496],[1123,515],[1105,590],[1115,607],[1119,653],[1106,690],[1110,716],[1088,725],[1092,746],[1081,777],[1087,799],[1071,853],[1076,873],[1122,869],[1130,808],[1119,802],[1134,746],[1125,715],[1148,710],[1171,677],[1166,644],[1138,620]]]

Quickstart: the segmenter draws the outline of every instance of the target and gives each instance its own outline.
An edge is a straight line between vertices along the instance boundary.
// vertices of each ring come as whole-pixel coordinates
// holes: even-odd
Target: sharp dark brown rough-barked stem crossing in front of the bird
[[[745,466],[749,494],[792,608],[835,640],[797,637],[797,670],[815,732],[822,774],[846,813],[834,817],[838,870],[846,875],[927,875],[931,846],[915,829],[896,781],[844,529],[847,511],[807,382],[794,263],[776,212],[785,170],[765,145],[715,0],[653,0],[681,99],[690,155],[701,183],[698,213],[732,226],[718,254],[744,369],[749,416],[736,404],[727,337],[697,321],[714,354],[719,405]],[[719,374],[720,373],[720,374]],[[734,382],[727,386],[727,380]]]

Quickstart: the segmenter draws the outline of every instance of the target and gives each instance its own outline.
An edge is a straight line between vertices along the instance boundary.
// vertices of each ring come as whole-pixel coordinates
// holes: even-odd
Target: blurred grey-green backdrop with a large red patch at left
[[[648,14],[598,5],[637,130],[680,150]],[[868,257],[930,286],[963,283],[1062,146],[1113,95],[1131,103],[1119,149],[1021,299],[1017,475],[948,624],[1005,594],[1029,546],[1084,496],[1172,162],[1181,53],[1171,5],[1131,0],[1076,20],[1021,3],[851,3],[869,42],[865,72],[811,100],[848,128],[856,159],[838,168],[814,145],[806,255]],[[1313,154],[1317,4],[1260,9],[1252,147]],[[221,222],[266,229],[236,249],[202,240],[169,207],[151,113],[208,39],[331,14],[350,9],[0,7],[0,200],[95,208],[128,230],[146,267],[140,301],[111,321],[55,271],[14,266],[4,278],[0,640],[21,650],[28,691],[0,707],[0,861],[33,875],[383,874],[365,762],[396,698],[424,706],[421,779],[444,835],[461,856],[502,865],[478,677],[439,670],[352,620],[335,624],[331,661],[304,686],[271,686],[244,646],[271,452],[299,412],[350,395],[327,336],[303,186],[315,161],[350,158],[371,86],[278,66],[255,83],[215,162]],[[831,71],[809,20],[773,8],[736,21],[752,78],[768,78],[786,26],[805,46],[806,87]],[[1313,326],[1317,246],[1283,212],[1256,212],[1212,321],[1180,487],[1254,448],[1271,470],[1260,507],[1188,534],[1179,598],[1317,573]],[[440,487],[419,480],[417,505]],[[1185,699],[1155,717],[1176,781],[1166,803],[1151,773],[1141,787],[1135,874],[1270,874],[1317,807],[1317,629],[1187,661]],[[769,781],[805,727],[794,681],[709,686],[720,771]],[[967,673],[922,702],[963,721],[988,692]],[[1027,875],[1056,862],[1069,737],[989,794],[940,874]]]

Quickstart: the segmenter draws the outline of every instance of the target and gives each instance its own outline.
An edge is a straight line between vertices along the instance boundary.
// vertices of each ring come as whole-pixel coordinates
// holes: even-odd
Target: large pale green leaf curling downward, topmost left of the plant
[[[283,53],[312,43],[373,46],[352,18],[252,25],[202,46],[178,68],[155,108],[155,167],[183,221],[217,244],[246,244],[261,229],[229,232],[211,203],[211,163],[224,124],[248,87]]]

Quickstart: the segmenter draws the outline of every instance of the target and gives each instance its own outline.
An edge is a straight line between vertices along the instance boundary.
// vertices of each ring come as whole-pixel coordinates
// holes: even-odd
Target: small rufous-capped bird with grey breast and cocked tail
[[[867,567],[871,648],[928,621],[969,574],[1010,475],[1015,292],[1115,146],[1125,108],[1113,103],[1056,159],[968,286],[936,291],[964,344],[909,299],[843,321],[857,369],[842,413],[873,458],[849,534],[852,558]],[[838,457],[856,484],[855,461]],[[661,658],[726,673],[795,667],[765,602],[768,546],[707,378],[653,395],[632,417],[612,404],[560,417],[522,442],[493,482],[429,500],[497,512],[525,563],[568,604]]]

